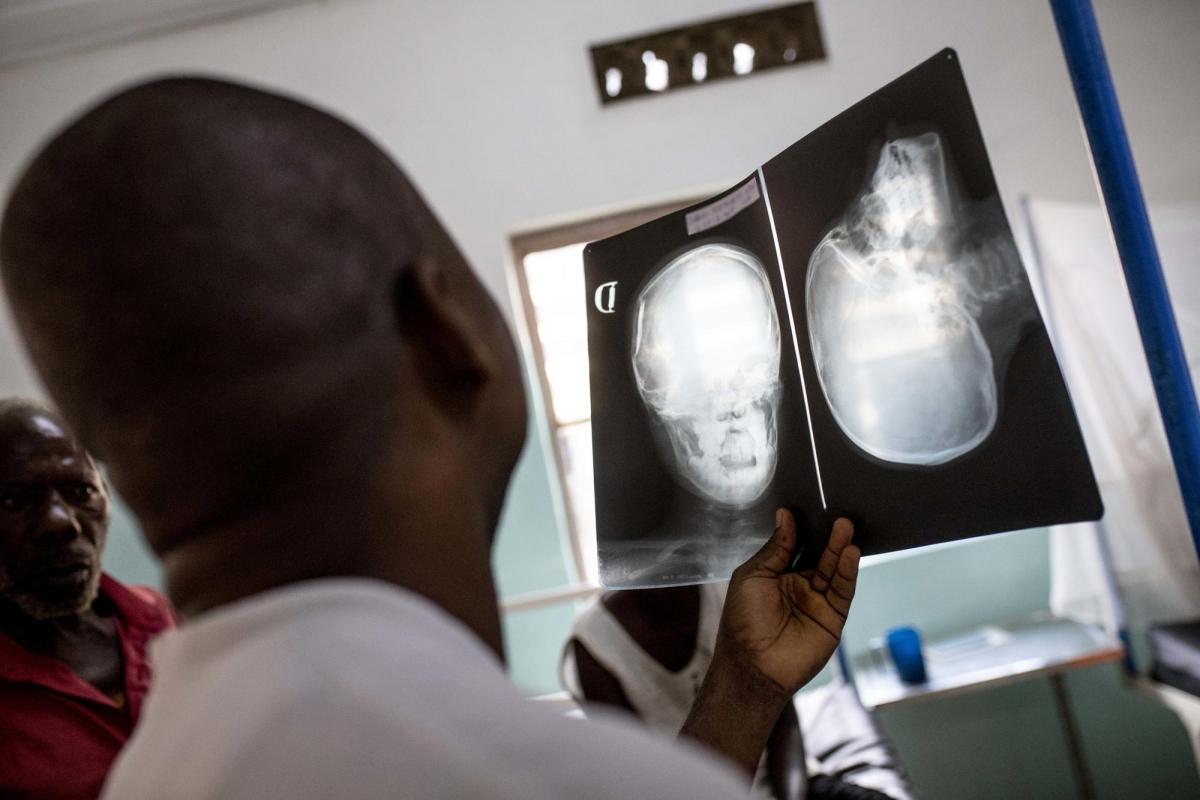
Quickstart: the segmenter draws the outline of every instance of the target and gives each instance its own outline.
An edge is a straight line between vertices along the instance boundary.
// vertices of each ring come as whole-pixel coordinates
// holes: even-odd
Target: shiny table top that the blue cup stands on
[[[984,625],[925,643],[929,681],[901,682],[887,652],[872,648],[856,660],[854,684],[869,709],[1013,684],[1098,663],[1120,661],[1121,644],[1104,631],[1049,613]]]

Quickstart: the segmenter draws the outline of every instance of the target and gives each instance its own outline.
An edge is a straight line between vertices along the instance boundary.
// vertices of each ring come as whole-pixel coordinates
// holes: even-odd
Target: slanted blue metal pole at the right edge
[[[1200,413],[1091,0],[1050,0],[1200,555]]]

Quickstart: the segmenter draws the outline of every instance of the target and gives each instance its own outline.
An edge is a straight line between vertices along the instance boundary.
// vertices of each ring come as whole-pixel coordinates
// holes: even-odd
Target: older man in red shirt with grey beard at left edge
[[[0,401],[0,796],[95,798],[150,687],[167,600],[103,575],[109,501],[49,409]]]

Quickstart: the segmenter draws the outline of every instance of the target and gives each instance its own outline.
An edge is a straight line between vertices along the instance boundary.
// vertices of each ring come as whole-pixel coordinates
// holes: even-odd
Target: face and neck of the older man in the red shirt
[[[119,697],[121,643],[96,600],[108,517],[103,480],[64,422],[0,409],[0,630]]]

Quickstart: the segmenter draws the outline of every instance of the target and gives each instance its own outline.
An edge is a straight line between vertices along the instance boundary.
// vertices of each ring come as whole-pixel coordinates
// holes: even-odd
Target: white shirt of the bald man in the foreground
[[[732,766],[623,720],[526,699],[424,597],[313,581],[188,621],[151,649],[155,685],[104,796],[738,798]]]

